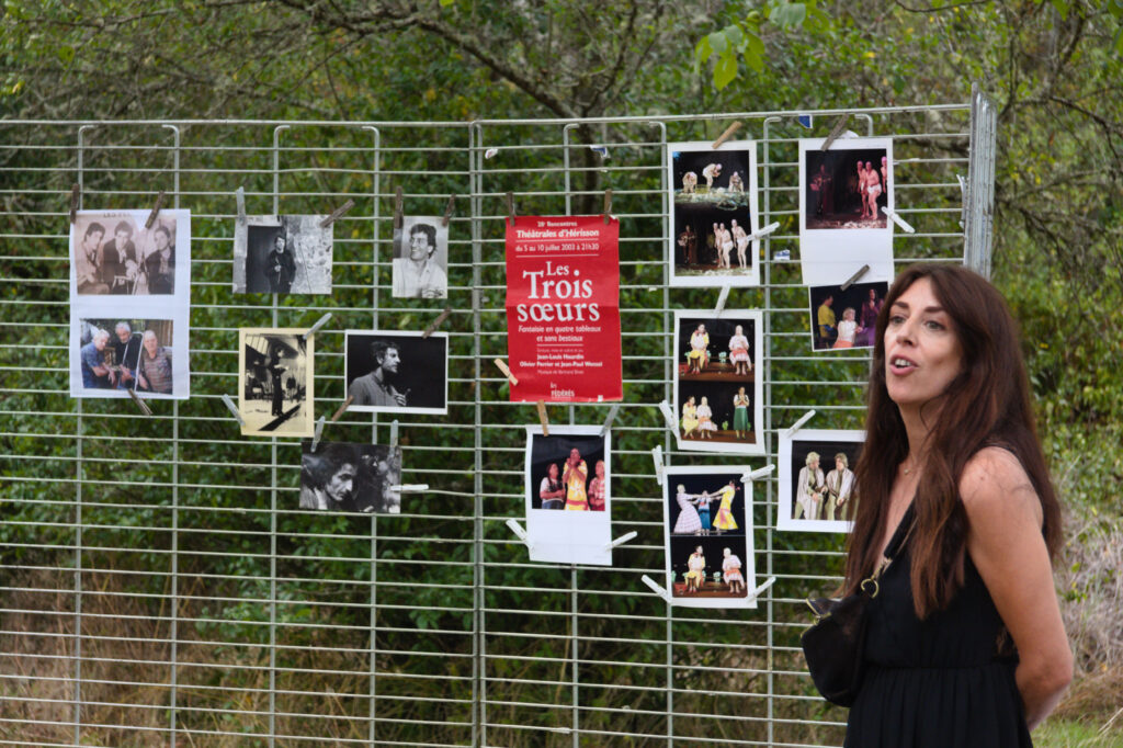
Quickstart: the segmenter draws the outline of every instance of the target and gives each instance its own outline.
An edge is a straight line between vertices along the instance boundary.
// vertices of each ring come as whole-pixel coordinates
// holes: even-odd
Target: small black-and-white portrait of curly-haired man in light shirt
[[[439,216],[407,216],[394,229],[395,299],[448,298],[448,227]]]

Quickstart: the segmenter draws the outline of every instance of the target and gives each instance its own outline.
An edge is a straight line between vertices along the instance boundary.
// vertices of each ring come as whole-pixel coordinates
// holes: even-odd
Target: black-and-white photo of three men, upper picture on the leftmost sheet
[[[175,218],[161,212],[150,229],[125,212],[80,212],[71,258],[79,295],[175,292]]]

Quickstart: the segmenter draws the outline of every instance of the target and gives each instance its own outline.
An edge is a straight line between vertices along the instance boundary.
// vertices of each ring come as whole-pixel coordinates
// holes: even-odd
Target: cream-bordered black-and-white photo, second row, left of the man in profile
[[[303,329],[243,328],[238,331],[238,411],[245,436],[310,437],[314,398],[314,338]]]

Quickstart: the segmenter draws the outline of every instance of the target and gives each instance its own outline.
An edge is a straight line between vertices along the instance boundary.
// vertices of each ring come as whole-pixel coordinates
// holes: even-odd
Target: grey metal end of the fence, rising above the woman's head
[[[971,84],[971,135],[964,195],[964,264],[990,277],[994,236],[994,180],[998,109],[977,83]]]

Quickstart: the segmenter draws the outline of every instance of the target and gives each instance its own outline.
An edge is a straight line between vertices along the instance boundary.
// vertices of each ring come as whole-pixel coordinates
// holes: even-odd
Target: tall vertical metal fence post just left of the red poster
[[[487,653],[487,621],[484,613],[484,501],[483,501],[483,394],[481,393],[483,371],[481,366],[480,339],[483,335],[481,318],[481,288],[483,285],[483,237],[480,216],[483,211],[483,128],[473,122],[468,127],[468,181],[472,203],[472,362],[474,366],[473,387],[475,454],[473,455],[473,542],[472,542],[472,746],[487,745],[487,672],[484,656]]]

